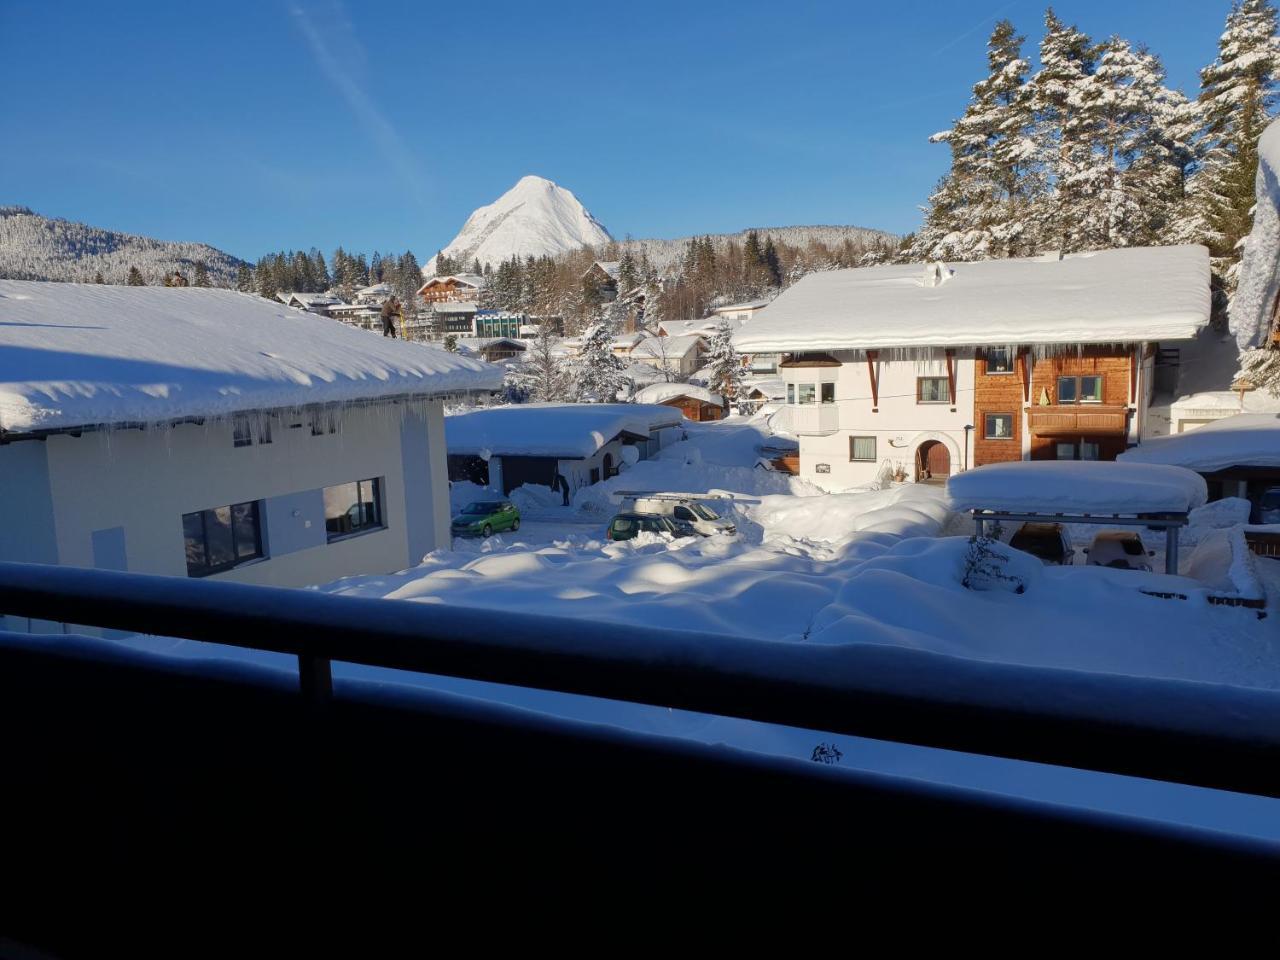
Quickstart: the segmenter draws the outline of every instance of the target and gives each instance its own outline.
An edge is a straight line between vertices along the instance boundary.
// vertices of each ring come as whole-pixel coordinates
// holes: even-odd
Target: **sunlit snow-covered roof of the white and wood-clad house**
[[[1204,247],[1130,247],[809,274],[733,340],[748,352],[1178,340],[1208,315]]]

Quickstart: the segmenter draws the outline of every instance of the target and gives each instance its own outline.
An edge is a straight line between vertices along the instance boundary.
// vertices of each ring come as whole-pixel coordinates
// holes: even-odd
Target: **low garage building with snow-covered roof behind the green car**
[[[672,442],[680,410],[650,403],[521,403],[445,417],[449,479],[511,493],[524,484],[564,490],[608,480],[623,448],[644,460]],[[557,479],[562,477],[563,484]]]

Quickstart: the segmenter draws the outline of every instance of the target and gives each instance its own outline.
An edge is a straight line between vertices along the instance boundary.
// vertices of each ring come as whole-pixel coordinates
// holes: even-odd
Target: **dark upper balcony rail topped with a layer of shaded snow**
[[[1266,690],[3,562],[0,611],[1280,796]]]

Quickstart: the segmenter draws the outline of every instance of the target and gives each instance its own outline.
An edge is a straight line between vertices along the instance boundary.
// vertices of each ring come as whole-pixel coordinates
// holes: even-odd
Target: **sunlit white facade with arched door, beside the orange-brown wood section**
[[[861,355],[837,353],[838,367],[782,367],[788,384],[835,380],[836,416],[815,412],[809,404],[791,404],[788,419],[800,438],[800,477],[827,490],[846,490],[874,483],[882,474],[899,467],[908,480],[915,479],[915,453],[925,440],[946,444],[951,472],[973,462],[974,355],[957,349],[954,357],[955,396],[950,403],[918,403],[916,378],[946,376],[945,355],[927,360],[878,360],[879,403],[873,412],[872,381]],[[796,390],[799,393],[799,389]],[[820,407],[822,404],[815,404]],[[820,422],[823,419],[826,424]],[[809,422],[817,421],[814,426]],[[806,434],[809,429],[835,430],[826,435]],[[876,460],[851,461],[850,438],[874,436]]]

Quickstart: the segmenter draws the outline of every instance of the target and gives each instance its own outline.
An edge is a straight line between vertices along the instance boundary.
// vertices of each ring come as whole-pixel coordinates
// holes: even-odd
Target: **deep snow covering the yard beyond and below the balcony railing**
[[[822,494],[750,466],[771,439],[762,424],[741,417],[687,424],[686,442],[581,490],[570,507],[536,488],[515,492],[524,515],[516,534],[456,540],[453,549],[433,553],[412,570],[319,589],[479,607],[512,618],[529,612],[568,616],[602,641],[611,623],[627,622],[1280,690],[1274,613],[1258,620],[1254,611],[1212,607],[1204,585],[1187,576],[1043,567],[1002,547],[997,556],[1006,558],[1006,572],[1019,577],[1023,591],[1000,589],[1000,582],[968,589],[961,582],[968,524],[951,513],[943,490],[899,485]],[[609,543],[604,529],[625,490],[718,494],[707,502],[732,513],[739,532]],[[480,488],[454,484],[456,507],[484,495]],[[1210,504],[1188,536],[1212,532],[1230,515],[1230,506]],[[1088,529],[1078,536],[1092,534]],[[1266,564],[1280,570],[1280,563],[1258,563]],[[1271,571],[1268,582],[1274,609],[1280,576]],[[1143,588],[1188,599],[1151,596]],[[288,658],[192,641],[132,643],[182,657],[250,658],[293,668]],[[1280,801],[1261,797],[353,664],[335,664],[335,677],[425,686],[803,760],[818,744],[835,744],[842,764],[859,769],[1280,838]]]

